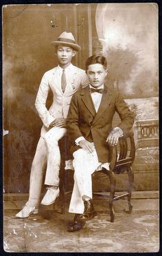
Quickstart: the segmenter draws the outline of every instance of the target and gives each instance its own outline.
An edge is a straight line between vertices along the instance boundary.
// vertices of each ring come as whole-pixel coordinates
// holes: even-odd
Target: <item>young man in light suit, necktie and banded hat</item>
[[[35,106],[43,127],[36,148],[36,154],[32,162],[30,174],[30,197],[16,217],[28,217],[32,213],[38,213],[43,172],[45,164],[47,170],[45,185],[47,193],[41,204],[53,204],[59,195],[59,170],[60,149],[58,141],[65,136],[66,118],[71,97],[78,88],[88,85],[88,79],[84,70],[71,64],[71,59],[80,50],[80,46],[71,32],[62,32],[57,41],[52,42],[56,46],[58,66],[43,75],[38,88]],[[46,108],[46,100],[49,90],[53,92],[53,103],[49,110]]]

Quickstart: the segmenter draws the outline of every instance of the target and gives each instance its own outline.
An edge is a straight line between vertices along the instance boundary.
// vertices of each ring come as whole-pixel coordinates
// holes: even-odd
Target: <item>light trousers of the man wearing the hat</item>
[[[67,132],[66,128],[51,128],[49,131],[42,128],[41,137],[38,141],[32,170],[30,173],[30,197],[27,205],[36,206],[40,202],[41,188],[43,184],[43,173],[47,166],[45,184],[51,186],[59,185],[60,170],[60,148],[58,141]]]

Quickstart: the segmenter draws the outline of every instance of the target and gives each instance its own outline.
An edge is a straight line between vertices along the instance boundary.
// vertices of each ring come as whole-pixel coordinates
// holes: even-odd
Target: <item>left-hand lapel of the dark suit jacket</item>
[[[86,108],[91,112],[93,117],[95,117],[96,112],[95,112],[95,107],[89,92],[89,86],[86,86],[86,88],[82,89],[82,92],[80,93],[82,101],[84,102],[84,105]]]

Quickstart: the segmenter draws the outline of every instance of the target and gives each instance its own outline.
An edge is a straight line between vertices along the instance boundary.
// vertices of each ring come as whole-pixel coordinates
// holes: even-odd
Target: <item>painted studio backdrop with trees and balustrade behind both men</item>
[[[107,58],[107,81],[124,94],[136,116],[134,190],[158,190],[157,5],[73,3],[3,6],[4,193],[29,191],[42,126],[34,101],[44,72],[57,65],[51,41],[62,31],[72,32],[82,47],[73,62],[78,67],[84,69],[92,54]],[[47,106],[50,102],[49,95]],[[116,115],[114,125],[118,121]],[[118,190],[124,180],[117,180]],[[97,190],[97,182],[93,186]]]

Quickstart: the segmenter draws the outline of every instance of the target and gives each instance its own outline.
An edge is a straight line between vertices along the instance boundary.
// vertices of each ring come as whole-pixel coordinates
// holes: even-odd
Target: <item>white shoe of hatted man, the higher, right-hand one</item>
[[[45,206],[49,206],[50,204],[54,204],[54,201],[59,196],[60,190],[54,189],[54,188],[47,188],[47,192],[45,193],[45,196],[43,197],[40,204],[44,204]]]

